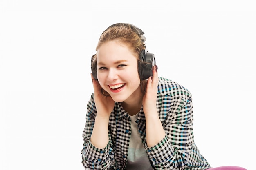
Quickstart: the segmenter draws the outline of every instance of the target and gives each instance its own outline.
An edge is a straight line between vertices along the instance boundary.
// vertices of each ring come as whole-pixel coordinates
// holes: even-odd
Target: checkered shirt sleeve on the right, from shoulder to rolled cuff
[[[161,93],[157,97],[159,118],[166,136],[155,146],[146,148],[156,170],[184,169],[194,142],[191,94],[184,88],[173,89],[172,94]]]

